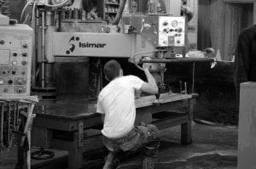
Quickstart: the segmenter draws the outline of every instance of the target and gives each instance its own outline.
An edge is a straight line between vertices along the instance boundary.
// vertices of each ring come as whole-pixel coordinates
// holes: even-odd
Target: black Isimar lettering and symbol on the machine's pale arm
[[[79,42],[79,48],[105,48],[106,43],[91,43],[91,42],[80,42],[79,37],[71,37],[68,41],[70,48],[66,51],[66,54],[71,54],[76,48],[75,42]]]

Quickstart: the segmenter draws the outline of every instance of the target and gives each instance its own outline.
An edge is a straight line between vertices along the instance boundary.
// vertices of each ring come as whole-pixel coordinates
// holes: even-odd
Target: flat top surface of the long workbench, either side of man
[[[191,99],[191,94],[162,93],[160,94],[159,104],[175,102],[178,100]],[[154,95],[143,96],[135,99],[137,109],[152,106],[156,98]],[[34,111],[38,117],[52,117],[68,120],[77,120],[96,114],[96,100],[90,102],[88,99],[74,100],[73,102],[57,102],[55,104],[37,105]]]

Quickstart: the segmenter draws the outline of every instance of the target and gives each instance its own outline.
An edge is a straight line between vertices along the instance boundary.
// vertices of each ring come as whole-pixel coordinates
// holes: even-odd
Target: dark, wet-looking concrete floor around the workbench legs
[[[237,127],[192,124],[192,144],[179,144],[180,127],[161,131],[158,169],[234,169],[237,166]],[[88,155],[83,169],[102,168],[104,155]],[[13,169],[15,154],[1,153],[0,169]],[[10,161],[10,159],[12,159]],[[11,164],[12,163],[12,164]],[[119,169],[141,169],[138,155],[123,161]]]

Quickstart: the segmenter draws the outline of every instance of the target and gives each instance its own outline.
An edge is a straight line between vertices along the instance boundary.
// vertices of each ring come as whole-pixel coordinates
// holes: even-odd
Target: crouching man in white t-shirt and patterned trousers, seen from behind
[[[151,64],[144,64],[143,70],[148,82],[137,76],[123,76],[119,63],[110,60],[103,67],[109,81],[99,94],[96,112],[102,114],[103,141],[110,151],[103,169],[119,165],[127,151],[142,149],[143,169],[153,169],[159,147],[159,130],[154,125],[134,126],[136,117],[135,92],[156,94],[158,87],[149,72]]]

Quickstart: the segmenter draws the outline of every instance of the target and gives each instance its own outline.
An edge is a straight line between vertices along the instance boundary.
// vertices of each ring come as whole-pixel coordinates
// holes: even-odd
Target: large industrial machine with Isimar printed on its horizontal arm
[[[37,59],[33,66],[35,94],[55,93],[56,58],[127,58],[137,65],[154,62],[151,71],[165,90],[166,63],[213,61],[188,59],[187,22],[193,13],[184,0],[120,0],[119,12],[109,20],[85,20],[82,9],[70,9],[70,0],[31,0]],[[90,27],[90,25],[94,25]],[[83,30],[84,28],[84,30]],[[144,59],[150,58],[150,59]],[[47,93],[47,94],[45,94]]]

